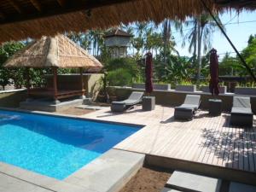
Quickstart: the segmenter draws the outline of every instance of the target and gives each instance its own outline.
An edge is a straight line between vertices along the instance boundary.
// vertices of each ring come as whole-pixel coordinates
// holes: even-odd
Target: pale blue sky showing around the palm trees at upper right
[[[237,14],[236,12],[229,12],[223,15],[220,15],[220,20],[225,26],[226,33],[230,37],[230,40],[235,44],[236,49],[241,51],[247,47],[247,40],[251,34],[256,34],[256,11],[254,12],[241,12]],[[190,28],[188,26],[187,28]],[[186,28],[184,28],[184,31]],[[188,32],[188,31],[187,31]],[[184,32],[185,33],[185,32]],[[175,30],[172,31],[172,34],[177,42],[176,49],[180,55],[191,55],[189,54],[188,47],[182,48],[182,37],[179,32]],[[216,30],[212,38],[212,47],[218,50],[219,58],[224,56],[226,52],[234,52],[234,49],[230,46],[229,42],[226,40],[224,35]],[[231,55],[236,55],[231,53]]]

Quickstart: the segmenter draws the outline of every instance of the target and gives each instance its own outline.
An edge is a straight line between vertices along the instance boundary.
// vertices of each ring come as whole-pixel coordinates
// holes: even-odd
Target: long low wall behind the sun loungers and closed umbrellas
[[[108,87],[108,90],[109,92],[117,96],[118,101],[126,99],[131,94],[131,91],[143,91],[140,89],[132,89],[131,87],[125,87],[125,88]],[[227,112],[230,112],[232,108],[233,96],[241,96],[241,95],[236,95],[231,93],[220,94],[219,96],[212,96],[209,93],[204,93],[201,91],[185,92],[185,91],[177,91],[177,90],[154,90],[151,93],[151,96],[155,96],[156,104],[176,107],[183,103],[185,96],[187,94],[201,95],[201,108],[205,110],[209,108],[208,106],[209,99],[212,99],[212,98],[221,99],[223,101],[223,111],[227,111]],[[256,113],[256,96],[250,96],[250,97],[251,97],[253,113]]]

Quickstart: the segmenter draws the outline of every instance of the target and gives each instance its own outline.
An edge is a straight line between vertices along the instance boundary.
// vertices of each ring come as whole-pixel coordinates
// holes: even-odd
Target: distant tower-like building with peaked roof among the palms
[[[112,58],[125,57],[131,44],[132,35],[120,29],[115,29],[104,36],[105,44],[110,49]]]

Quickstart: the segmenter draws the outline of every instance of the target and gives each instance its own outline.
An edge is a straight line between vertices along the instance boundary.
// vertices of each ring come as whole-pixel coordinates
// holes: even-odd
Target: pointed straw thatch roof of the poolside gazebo
[[[4,64],[5,67],[85,67],[99,71],[100,61],[64,35],[43,37],[16,52]]]

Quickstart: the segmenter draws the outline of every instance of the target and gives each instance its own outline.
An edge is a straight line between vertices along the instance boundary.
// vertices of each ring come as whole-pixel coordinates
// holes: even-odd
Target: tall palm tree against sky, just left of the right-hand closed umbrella
[[[215,15],[215,18],[222,25],[218,15]],[[191,30],[183,38],[183,46],[186,41],[189,41],[189,52],[191,53],[193,49],[194,65],[197,63],[196,79],[199,83],[201,77],[201,49],[203,47],[203,53],[206,54],[212,48],[212,34],[218,26],[211,15],[206,13],[195,17],[193,20],[185,21],[185,26],[191,25]]]

